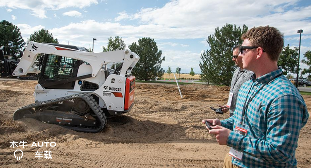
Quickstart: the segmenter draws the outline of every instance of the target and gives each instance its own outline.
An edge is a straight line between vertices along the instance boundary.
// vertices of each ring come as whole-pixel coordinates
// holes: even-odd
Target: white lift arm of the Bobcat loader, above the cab
[[[139,60],[139,56],[130,50],[89,53],[81,50],[58,47],[52,44],[30,41],[20,63],[13,72],[13,76],[26,75],[39,54],[55,54],[88,62],[92,67],[92,77],[95,77],[100,69],[108,63],[120,62],[122,60],[124,60],[124,62],[120,75],[125,76],[127,73],[131,73],[132,68]]]

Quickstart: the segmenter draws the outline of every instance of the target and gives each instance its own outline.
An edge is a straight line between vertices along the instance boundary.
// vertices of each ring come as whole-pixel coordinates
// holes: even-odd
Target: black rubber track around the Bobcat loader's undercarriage
[[[98,103],[95,101],[95,99],[89,93],[74,94],[74,95],[71,95],[71,96],[61,97],[61,98],[57,98],[57,99],[51,99],[51,100],[47,100],[47,101],[40,101],[40,102],[37,102],[37,103],[33,103],[33,104],[30,104],[30,105],[21,107],[21,108],[19,108],[18,110],[16,110],[14,112],[13,120],[16,120],[15,116],[19,112],[21,112],[22,110],[32,109],[32,108],[40,107],[40,106],[52,105],[54,103],[58,103],[58,102],[62,102],[62,101],[68,101],[68,100],[77,99],[77,98],[83,99],[91,107],[93,112],[100,119],[100,127],[99,128],[81,128],[81,127],[72,127],[72,126],[70,126],[70,127],[69,126],[62,126],[62,127],[69,128],[69,129],[72,129],[74,131],[81,131],[81,132],[96,133],[96,132],[101,131],[105,127],[105,125],[107,123],[107,117],[104,114],[103,110],[101,110],[101,108],[98,105]]]

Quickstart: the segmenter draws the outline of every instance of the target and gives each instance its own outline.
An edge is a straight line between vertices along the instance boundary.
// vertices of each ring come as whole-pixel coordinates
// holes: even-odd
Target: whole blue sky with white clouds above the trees
[[[191,67],[201,72],[207,37],[226,23],[274,26],[292,48],[303,29],[300,58],[311,50],[310,0],[0,0],[0,9],[0,19],[18,26],[25,40],[44,28],[61,44],[89,48],[96,38],[94,52],[102,52],[110,36],[122,37],[127,46],[154,38],[166,59],[161,67],[180,67],[182,73]]]

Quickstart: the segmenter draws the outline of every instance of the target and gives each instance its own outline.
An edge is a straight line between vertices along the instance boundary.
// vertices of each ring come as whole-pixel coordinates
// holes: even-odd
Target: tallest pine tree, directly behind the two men
[[[201,54],[202,62],[199,64],[201,80],[227,86],[231,84],[232,74],[236,68],[232,61],[233,47],[242,44],[241,36],[247,30],[246,25],[240,28],[232,24],[215,29],[215,33],[206,40],[211,49]]]

